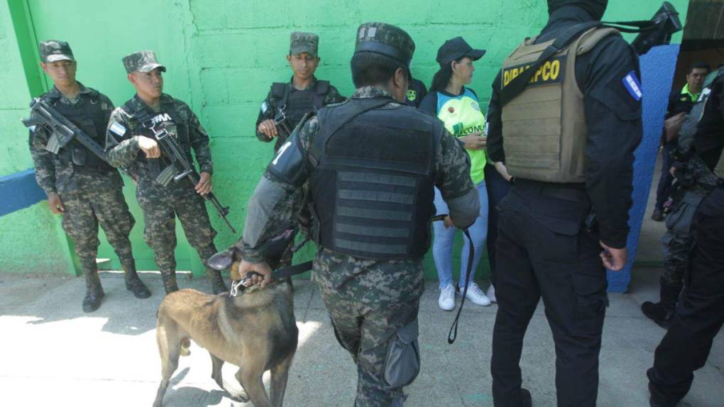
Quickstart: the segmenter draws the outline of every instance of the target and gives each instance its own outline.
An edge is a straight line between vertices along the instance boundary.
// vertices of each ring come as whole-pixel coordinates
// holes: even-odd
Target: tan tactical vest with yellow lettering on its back
[[[502,108],[505,166],[512,176],[535,181],[584,182],[586,118],[576,82],[576,57],[591,51],[613,28],[593,28],[555,53],[536,71],[523,92]],[[505,59],[501,88],[534,63],[553,40],[535,38]],[[571,50],[575,50],[571,52]]]

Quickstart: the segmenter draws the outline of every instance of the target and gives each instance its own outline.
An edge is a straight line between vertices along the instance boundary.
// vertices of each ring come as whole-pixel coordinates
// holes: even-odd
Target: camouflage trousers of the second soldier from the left
[[[174,194],[143,194],[139,188],[136,192],[138,204],[143,209],[143,239],[153,249],[153,260],[161,273],[176,271],[176,217],[189,244],[196,249],[201,261],[216,254],[214,237],[216,231],[211,227],[206,204],[199,194],[188,194],[175,197]],[[206,267],[206,271],[211,270]]]

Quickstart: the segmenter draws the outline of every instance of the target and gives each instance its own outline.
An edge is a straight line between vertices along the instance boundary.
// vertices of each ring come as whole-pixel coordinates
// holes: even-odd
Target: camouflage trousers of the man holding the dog
[[[388,352],[392,347],[418,346],[422,274],[420,262],[375,262],[328,250],[316,256],[313,279],[334,335],[357,365],[357,407],[402,406],[406,398],[403,386],[414,377],[403,382],[390,379]],[[413,363],[419,364],[416,351]]]

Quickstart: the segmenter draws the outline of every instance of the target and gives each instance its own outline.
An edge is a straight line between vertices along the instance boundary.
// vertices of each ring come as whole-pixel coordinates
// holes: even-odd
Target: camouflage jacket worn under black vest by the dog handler
[[[384,96],[390,97],[390,93],[376,87],[361,87],[355,91],[352,97],[377,98]],[[392,100],[390,100],[390,103],[398,104]],[[300,129],[296,137],[299,137],[303,155],[306,156],[306,151],[309,145],[311,145],[311,140],[313,140],[315,134],[319,132],[319,129],[319,120],[316,116],[309,119]],[[473,191],[474,186],[470,179],[470,158],[460,142],[447,131],[445,131],[445,134],[441,137],[440,145],[436,149],[434,170],[437,172],[437,187],[442,192],[445,200],[466,196],[466,194]],[[264,252],[261,249],[261,247],[264,246],[264,242],[277,236],[286,228],[296,226],[297,215],[304,205],[303,200],[306,187],[307,185],[305,184],[303,188],[298,189],[289,184],[276,181],[269,174],[269,171],[264,173],[264,177],[261,179],[248,205],[248,215],[242,242],[243,257],[246,260],[251,262],[261,262],[264,260]],[[477,197],[477,194],[474,195]],[[471,207],[471,213],[473,210],[476,216],[479,212],[479,207]],[[341,286],[349,280],[358,278],[359,275],[363,273],[363,270],[369,270],[369,267],[374,266],[375,263],[388,263],[357,259],[345,254],[332,252],[328,249],[319,252],[315,270],[320,267],[320,262],[323,263],[323,265],[321,265],[322,269],[328,269],[330,264],[359,266],[342,267],[344,270],[333,270],[333,281],[327,280],[327,283],[331,286]],[[405,270],[413,270],[421,273],[421,259],[395,260],[393,262],[400,265],[400,273],[404,274]],[[332,268],[334,267],[332,266]],[[421,275],[417,275],[417,273],[412,274],[413,276],[410,278],[413,278],[416,290],[418,294],[421,294],[422,288],[418,286],[418,283],[421,281]],[[319,278],[319,275],[317,278]]]

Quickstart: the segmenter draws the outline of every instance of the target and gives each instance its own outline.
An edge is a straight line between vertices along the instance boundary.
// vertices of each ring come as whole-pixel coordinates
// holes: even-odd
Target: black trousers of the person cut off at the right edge
[[[675,406],[689,393],[694,371],[706,363],[724,323],[724,187],[702,201],[694,222],[685,288],[647,372],[652,406]]]

